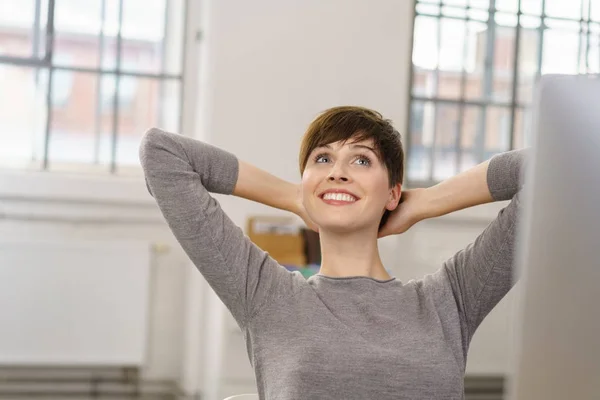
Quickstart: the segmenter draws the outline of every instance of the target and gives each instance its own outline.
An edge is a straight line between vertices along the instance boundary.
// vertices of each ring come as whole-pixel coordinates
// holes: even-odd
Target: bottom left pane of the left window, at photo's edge
[[[0,166],[39,166],[46,126],[47,75],[0,64]],[[32,161],[34,165],[32,165]]]

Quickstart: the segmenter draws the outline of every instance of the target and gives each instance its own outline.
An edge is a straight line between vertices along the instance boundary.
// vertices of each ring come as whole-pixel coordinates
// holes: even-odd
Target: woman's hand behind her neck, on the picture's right
[[[402,192],[398,207],[390,214],[379,230],[378,238],[406,232],[411,226],[426,218],[427,189],[410,189]]]

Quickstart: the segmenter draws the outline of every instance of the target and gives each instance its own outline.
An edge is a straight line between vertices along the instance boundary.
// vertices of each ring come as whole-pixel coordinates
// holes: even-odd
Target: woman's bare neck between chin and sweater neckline
[[[387,280],[387,273],[379,257],[377,232],[351,233],[319,232],[321,242],[321,269],[319,274],[330,277],[366,276]]]

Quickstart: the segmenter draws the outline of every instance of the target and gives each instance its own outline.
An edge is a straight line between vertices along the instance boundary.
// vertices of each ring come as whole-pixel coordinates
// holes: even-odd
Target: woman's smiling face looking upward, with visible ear
[[[383,212],[398,205],[400,184],[389,187],[387,169],[372,139],[348,140],[312,151],[302,174],[302,196],[306,212],[321,231],[377,231]]]

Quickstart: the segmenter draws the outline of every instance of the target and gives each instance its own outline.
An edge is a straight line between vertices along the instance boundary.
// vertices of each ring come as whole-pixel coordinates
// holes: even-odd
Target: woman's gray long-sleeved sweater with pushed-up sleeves
[[[494,157],[509,200],[474,243],[419,280],[305,279],[255,246],[210,193],[231,194],[238,160],[158,129],[140,147],[150,193],[244,334],[261,399],[462,399],[475,330],[514,284],[523,151]]]

